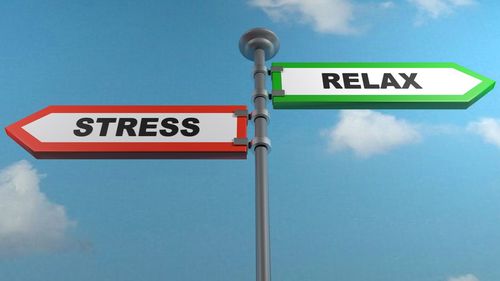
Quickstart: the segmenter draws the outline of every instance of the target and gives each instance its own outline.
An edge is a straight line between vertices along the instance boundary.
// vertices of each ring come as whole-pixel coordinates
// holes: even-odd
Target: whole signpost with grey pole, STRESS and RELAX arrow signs
[[[276,109],[467,108],[495,82],[453,63],[273,63],[270,30],[243,34],[241,54],[254,62],[255,110],[238,106],[49,106],[6,128],[36,158],[246,159],[255,152],[256,280],[271,280],[267,135]],[[248,143],[248,118],[255,136]]]

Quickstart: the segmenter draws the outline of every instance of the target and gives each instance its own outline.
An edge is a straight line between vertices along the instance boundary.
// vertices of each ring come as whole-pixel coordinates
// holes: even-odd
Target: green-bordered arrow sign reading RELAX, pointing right
[[[276,109],[467,108],[495,81],[454,63],[273,63]]]

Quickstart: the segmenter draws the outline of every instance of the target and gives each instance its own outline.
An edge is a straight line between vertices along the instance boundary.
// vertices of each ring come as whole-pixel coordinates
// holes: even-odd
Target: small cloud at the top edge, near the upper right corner
[[[408,0],[420,12],[417,24],[421,24],[425,17],[438,18],[452,13],[456,8],[475,4],[475,0]]]

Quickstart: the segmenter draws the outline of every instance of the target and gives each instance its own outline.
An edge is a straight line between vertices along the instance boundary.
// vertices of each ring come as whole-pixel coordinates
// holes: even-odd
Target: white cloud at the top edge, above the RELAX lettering
[[[323,33],[351,34],[354,5],[350,0],[250,0],[275,21],[298,19]]]

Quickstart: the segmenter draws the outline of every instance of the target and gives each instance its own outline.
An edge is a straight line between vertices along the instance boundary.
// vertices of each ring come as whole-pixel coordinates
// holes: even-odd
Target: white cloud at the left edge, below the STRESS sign
[[[0,256],[59,250],[75,225],[40,191],[40,175],[20,161],[0,171]]]

